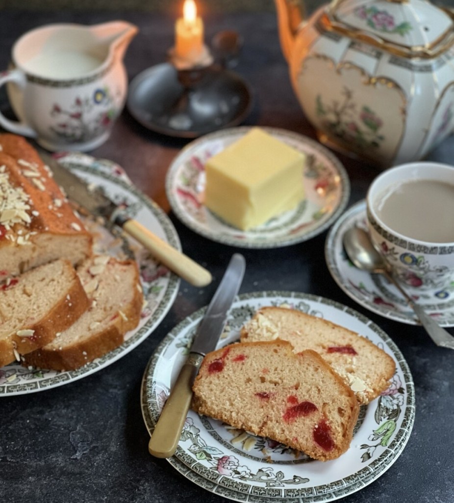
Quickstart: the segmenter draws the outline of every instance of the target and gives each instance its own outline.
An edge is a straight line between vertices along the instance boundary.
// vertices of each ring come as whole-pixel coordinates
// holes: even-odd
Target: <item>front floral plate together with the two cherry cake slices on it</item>
[[[206,308],[158,346],[142,382],[151,436]],[[331,501],[380,477],[414,422],[401,352],[364,315],[298,292],[239,295],[192,387],[169,463],[236,501]]]

